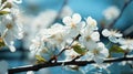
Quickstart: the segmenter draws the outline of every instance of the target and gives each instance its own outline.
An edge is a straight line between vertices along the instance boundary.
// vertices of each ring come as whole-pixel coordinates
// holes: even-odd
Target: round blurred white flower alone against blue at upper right
[[[109,7],[103,11],[103,15],[109,21],[116,19],[119,14],[120,14],[120,9],[116,8],[115,6]]]

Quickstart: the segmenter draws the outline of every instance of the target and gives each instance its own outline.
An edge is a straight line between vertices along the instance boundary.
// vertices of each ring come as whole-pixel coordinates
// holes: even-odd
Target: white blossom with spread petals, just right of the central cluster
[[[113,43],[117,43],[119,42],[119,38],[122,38],[123,34],[121,34],[120,32],[115,31],[115,30],[108,30],[108,29],[104,29],[102,31],[102,34],[104,36],[108,36],[109,40]]]

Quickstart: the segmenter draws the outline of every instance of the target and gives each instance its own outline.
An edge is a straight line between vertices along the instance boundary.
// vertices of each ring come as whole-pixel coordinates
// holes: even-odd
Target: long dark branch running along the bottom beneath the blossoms
[[[119,59],[106,59],[104,60],[103,63],[112,63],[112,62],[122,62],[122,61],[133,61],[133,57],[119,57]],[[37,65],[31,65],[31,66],[23,66],[23,67],[16,67],[16,68],[9,68],[8,73],[13,74],[13,73],[20,73],[20,72],[27,72],[27,71],[38,71],[40,68],[44,67],[53,67],[53,66],[61,66],[62,63],[64,65],[79,65],[79,66],[84,66],[86,64],[92,64],[95,63],[94,61],[66,61],[66,62],[45,62]]]

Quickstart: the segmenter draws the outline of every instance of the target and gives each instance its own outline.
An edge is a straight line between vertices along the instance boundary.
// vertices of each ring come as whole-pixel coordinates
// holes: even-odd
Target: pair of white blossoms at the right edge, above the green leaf
[[[124,39],[123,34],[116,30],[108,30],[104,29],[102,34],[109,38],[110,42],[119,43],[122,50],[126,50],[126,52],[133,51],[133,40],[132,39]]]

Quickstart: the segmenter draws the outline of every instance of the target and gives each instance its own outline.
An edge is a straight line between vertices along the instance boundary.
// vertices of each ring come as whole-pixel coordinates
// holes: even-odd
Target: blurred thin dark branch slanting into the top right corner
[[[125,1],[124,6],[123,6],[123,8],[122,8],[122,10],[121,10],[121,13],[119,14],[119,17],[117,17],[111,24],[109,24],[108,28],[113,28],[113,25],[114,25],[114,24],[117,22],[117,20],[122,17],[125,8],[126,8],[132,1],[133,1],[133,0],[126,0],[126,1]]]

